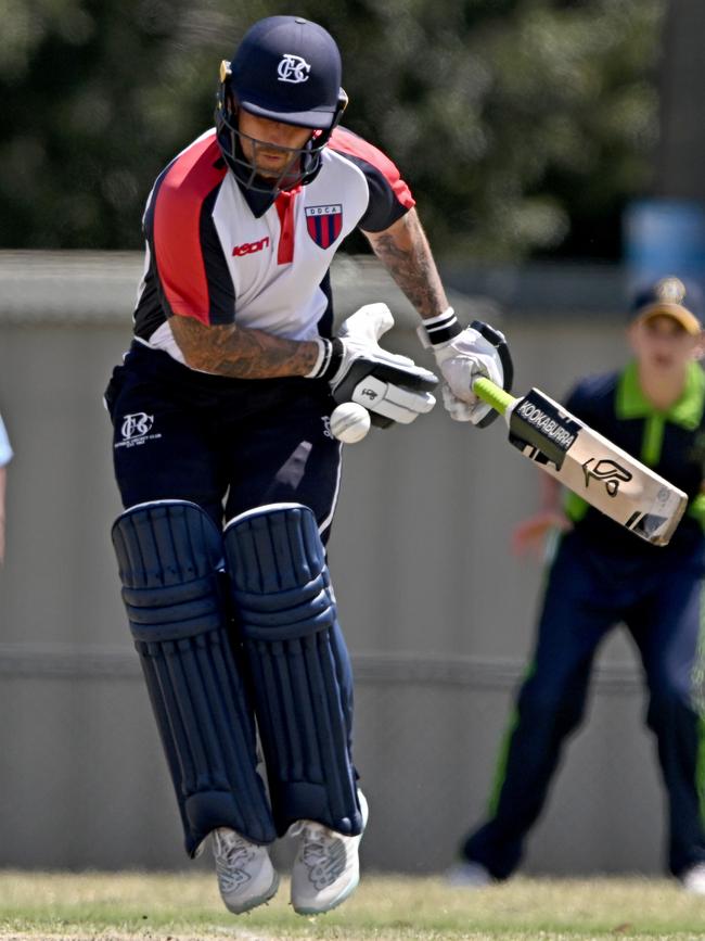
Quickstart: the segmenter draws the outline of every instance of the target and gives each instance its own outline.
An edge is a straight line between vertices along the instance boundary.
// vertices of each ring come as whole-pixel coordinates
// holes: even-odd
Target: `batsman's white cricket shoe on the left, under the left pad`
[[[233,915],[262,905],[277,893],[279,875],[267,847],[251,843],[229,827],[218,827],[213,831],[213,855],[220,897]]]

